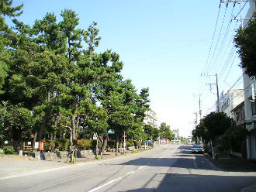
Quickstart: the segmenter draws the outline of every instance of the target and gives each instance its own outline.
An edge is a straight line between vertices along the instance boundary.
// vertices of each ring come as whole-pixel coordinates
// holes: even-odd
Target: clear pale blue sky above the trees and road
[[[54,12],[60,20],[64,9],[78,14],[81,29],[98,22],[102,40],[97,52],[111,49],[119,53],[124,63],[123,76],[131,79],[138,90],[149,87],[150,105],[159,122],[179,129],[183,136],[191,135],[194,126],[194,112],[199,110],[196,95],[202,94],[203,115],[215,109],[216,91],[213,87],[210,92],[206,85],[215,80],[200,74],[220,74],[220,92],[229,89],[242,74],[231,48],[234,29],[240,22],[231,22],[224,38],[233,4],[227,7],[226,17],[226,7],[221,6],[216,25],[219,0],[23,0],[14,1],[14,5],[20,2],[24,3],[24,12],[19,20],[29,25],[43,19],[47,12]],[[246,10],[247,5],[243,12]],[[233,15],[238,12],[236,5]],[[235,88],[241,85],[238,82]]]

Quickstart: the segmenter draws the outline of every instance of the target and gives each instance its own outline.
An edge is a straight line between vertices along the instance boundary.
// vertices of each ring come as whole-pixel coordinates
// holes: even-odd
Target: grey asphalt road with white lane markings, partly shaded
[[[218,170],[202,154],[192,154],[189,146],[166,145],[133,156],[2,179],[0,191],[234,192],[254,183],[254,172]]]

